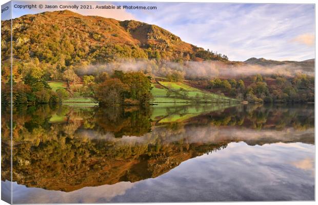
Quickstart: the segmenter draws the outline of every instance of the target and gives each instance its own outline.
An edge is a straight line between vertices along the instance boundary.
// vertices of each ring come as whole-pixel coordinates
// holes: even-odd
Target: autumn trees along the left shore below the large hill
[[[63,79],[66,89],[55,91],[43,79],[41,70],[33,67],[22,80],[13,75],[2,81],[2,104],[54,104],[74,96],[92,97],[100,105],[149,105],[151,95],[151,76],[142,72],[114,71],[113,74],[102,73],[98,77],[84,75],[82,79],[73,70],[66,70]],[[83,81],[78,88],[77,83]]]

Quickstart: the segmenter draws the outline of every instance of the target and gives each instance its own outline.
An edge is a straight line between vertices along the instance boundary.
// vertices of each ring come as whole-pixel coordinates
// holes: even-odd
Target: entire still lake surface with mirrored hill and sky
[[[46,105],[13,128],[13,203],[314,200],[311,105]]]

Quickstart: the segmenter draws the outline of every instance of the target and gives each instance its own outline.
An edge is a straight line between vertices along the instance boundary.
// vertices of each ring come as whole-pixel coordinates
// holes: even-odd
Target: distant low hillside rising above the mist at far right
[[[261,65],[266,67],[272,67],[272,66],[287,66],[290,69],[301,69],[306,72],[314,72],[314,64],[315,59],[308,59],[304,61],[278,61],[278,60],[269,60],[265,58],[249,58],[245,60],[243,63],[248,65]]]

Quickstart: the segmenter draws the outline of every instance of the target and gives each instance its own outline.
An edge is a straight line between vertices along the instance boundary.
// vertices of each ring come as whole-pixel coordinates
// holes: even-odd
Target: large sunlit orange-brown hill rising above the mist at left
[[[84,16],[68,10],[28,14],[13,19],[13,54],[16,60],[38,58],[61,67],[107,63],[117,58],[168,60],[218,59],[203,48],[155,25]],[[2,22],[2,54],[10,52],[10,21]]]

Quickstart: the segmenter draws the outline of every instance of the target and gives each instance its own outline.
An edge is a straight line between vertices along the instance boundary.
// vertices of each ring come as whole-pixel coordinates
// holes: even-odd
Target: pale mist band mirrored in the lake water
[[[85,134],[84,134],[85,133]],[[294,128],[285,128],[283,130],[254,130],[248,128],[235,127],[214,127],[214,126],[186,126],[177,130],[171,127],[153,127],[151,133],[143,136],[123,136],[114,138],[111,133],[100,134],[97,131],[82,131],[75,134],[77,137],[89,136],[89,138],[114,141],[120,144],[153,144],[156,139],[162,143],[172,143],[183,140],[185,143],[197,144],[217,144],[220,142],[245,141],[249,145],[263,145],[275,142],[306,142],[314,144],[314,128],[305,131],[298,131]]]

